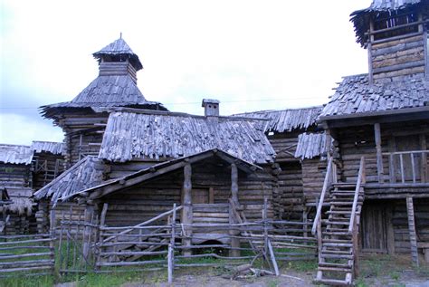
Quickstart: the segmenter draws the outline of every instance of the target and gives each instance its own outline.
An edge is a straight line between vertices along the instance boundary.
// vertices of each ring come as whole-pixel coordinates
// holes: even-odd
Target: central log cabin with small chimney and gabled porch
[[[77,200],[87,215],[108,204],[110,226],[138,225],[174,204],[183,207],[179,223],[228,223],[231,201],[261,219],[265,198],[272,217],[275,151],[255,128],[261,119],[219,116],[218,100],[203,107],[205,116],[111,109],[99,156],[82,158],[35,197],[54,208]],[[239,244],[225,234],[195,234],[186,244],[207,241]]]

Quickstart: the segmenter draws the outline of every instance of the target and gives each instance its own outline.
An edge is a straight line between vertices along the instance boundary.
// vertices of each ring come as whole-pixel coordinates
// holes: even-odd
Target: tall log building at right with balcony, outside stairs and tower
[[[368,73],[345,77],[319,115],[329,150],[313,225],[319,282],[351,284],[363,253],[429,259],[428,20],[424,0],[351,14]]]

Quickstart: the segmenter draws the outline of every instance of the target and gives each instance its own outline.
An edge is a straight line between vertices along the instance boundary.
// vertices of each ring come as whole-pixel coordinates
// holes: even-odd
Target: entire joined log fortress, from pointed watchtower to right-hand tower
[[[138,225],[176,204],[179,223],[231,223],[231,206],[252,221],[266,202],[271,218],[309,225],[319,282],[351,284],[363,253],[429,262],[429,2],[374,0],[351,22],[368,73],[305,109],[226,117],[205,99],[204,116],[168,111],[138,90],[143,66],[123,39],[94,53],[99,76],[42,107],[65,132],[68,169],[34,194],[41,218]],[[240,244],[194,235],[183,244]]]

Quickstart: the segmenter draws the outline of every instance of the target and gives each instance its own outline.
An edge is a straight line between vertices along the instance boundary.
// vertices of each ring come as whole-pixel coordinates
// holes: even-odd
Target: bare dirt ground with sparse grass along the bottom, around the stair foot
[[[316,270],[297,271],[294,267],[284,265],[281,267],[281,274],[286,276],[263,276],[257,278],[238,278],[231,280],[231,274],[221,270],[181,270],[175,273],[175,287],[217,287],[217,286],[245,286],[245,287],[307,287],[322,286],[313,283]],[[296,277],[296,278],[295,278]],[[157,280],[145,280],[145,282],[130,282],[122,287],[137,286],[169,286],[167,278]],[[407,257],[391,257],[386,255],[376,255],[361,260],[360,276],[355,281],[359,287],[429,287],[429,265],[419,268],[410,266]]]

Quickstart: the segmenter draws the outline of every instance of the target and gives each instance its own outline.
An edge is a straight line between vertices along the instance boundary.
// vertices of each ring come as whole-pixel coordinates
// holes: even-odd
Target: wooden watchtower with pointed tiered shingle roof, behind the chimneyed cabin
[[[67,167],[99,153],[110,109],[167,110],[146,100],[138,90],[137,72],[143,65],[122,38],[92,55],[99,63],[98,77],[73,100],[41,107],[43,117],[52,119],[65,133]]]

